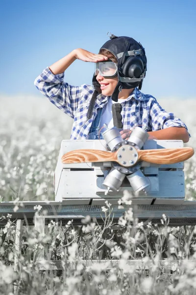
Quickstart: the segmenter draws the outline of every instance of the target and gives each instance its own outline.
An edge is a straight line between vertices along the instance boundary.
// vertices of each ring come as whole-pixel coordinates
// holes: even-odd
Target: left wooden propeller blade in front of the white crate
[[[99,149],[75,149],[67,152],[61,158],[64,164],[89,163],[89,162],[110,162],[117,161],[117,152],[104,151]]]

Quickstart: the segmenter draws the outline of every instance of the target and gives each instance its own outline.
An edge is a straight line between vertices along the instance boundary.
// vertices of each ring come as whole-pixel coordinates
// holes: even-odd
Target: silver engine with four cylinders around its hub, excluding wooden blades
[[[105,127],[107,127],[106,124]],[[107,147],[111,151],[117,150],[118,159],[121,161],[120,165],[112,163],[113,168],[103,181],[103,185],[107,187],[106,195],[110,189],[118,191],[125,177],[129,180],[135,193],[139,193],[141,190],[147,192],[150,182],[140,170],[140,165],[136,163],[138,160],[137,149],[144,146],[148,137],[148,133],[140,127],[134,128],[128,141],[122,139],[120,131],[116,127],[106,129],[103,132]],[[130,168],[132,168],[132,171],[129,171]]]

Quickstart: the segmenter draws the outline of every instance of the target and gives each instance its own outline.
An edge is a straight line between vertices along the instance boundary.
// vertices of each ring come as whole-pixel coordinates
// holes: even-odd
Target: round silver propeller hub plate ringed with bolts
[[[118,162],[123,167],[132,167],[137,163],[138,151],[133,146],[123,145],[117,151]]]

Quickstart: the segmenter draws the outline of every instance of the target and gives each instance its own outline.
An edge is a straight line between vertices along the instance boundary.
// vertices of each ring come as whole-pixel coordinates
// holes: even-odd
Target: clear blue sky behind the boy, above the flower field
[[[75,48],[98,53],[107,32],[140,41],[147,54],[143,92],[196,97],[196,0],[1,0],[0,93],[39,94],[42,70]],[[91,84],[94,64],[66,71],[71,85]]]

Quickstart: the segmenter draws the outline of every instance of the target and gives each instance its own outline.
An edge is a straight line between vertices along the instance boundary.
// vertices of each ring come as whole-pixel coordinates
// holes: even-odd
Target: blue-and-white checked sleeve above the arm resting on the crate
[[[184,127],[187,129],[185,123],[179,118],[175,117],[173,113],[168,113],[163,109],[159,103],[154,99],[150,104],[150,120],[152,131],[165,129],[168,127]],[[191,137],[191,135],[189,134]]]

